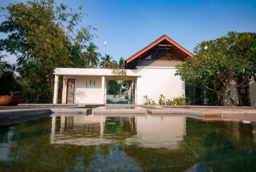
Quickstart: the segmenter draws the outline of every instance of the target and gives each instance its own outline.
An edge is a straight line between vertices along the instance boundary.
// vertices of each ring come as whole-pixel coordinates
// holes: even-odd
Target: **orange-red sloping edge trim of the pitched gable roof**
[[[180,46],[178,43],[176,43],[170,37],[167,37],[166,35],[163,35],[160,38],[158,38],[157,40],[155,40],[154,42],[152,42],[151,44],[149,44],[148,46],[146,46],[145,48],[141,49],[139,52],[136,52],[134,55],[127,58],[126,59],[126,64],[129,63],[130,61],[134,60],[135,58],[139,57],[139,55],[142,55],[144,52],[148,51],[149,49],[151,49],[152,47],[154,47],[155,45],[157,45],[158,43],[160,43],[163,40],[169,41],[170,43],[173,44],[173,46],[176,46],[178,49],[180,49],[182,52],[184,52],[188,56],[191,56],[191,57],[194,56],[191,52],[189,52],[187,49]]]

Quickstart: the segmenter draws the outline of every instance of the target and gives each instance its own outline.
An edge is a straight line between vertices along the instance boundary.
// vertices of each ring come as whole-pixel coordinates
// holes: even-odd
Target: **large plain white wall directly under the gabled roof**
[[[143,104],[143,97],[154,100],[158,104],[160,94],[165,98],[182,96],[185,94],[185,82],[179,76],[174,76],[176,69],[168,67],[138,67],[137,104]]]

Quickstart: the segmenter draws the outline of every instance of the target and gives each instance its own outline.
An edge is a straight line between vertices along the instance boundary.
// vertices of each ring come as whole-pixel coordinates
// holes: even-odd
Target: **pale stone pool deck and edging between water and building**
[[[28,105],[28,104],[26,104]],[[30,104],[38,106],[39,104]],[[43,106],[52,104],[42,104]],[[60,104],[61,105],[61,104]],[[256,121],[256,107],[213,107],[213,106],[152,106],[152,105],[118,105],[109,104],[106,106],[115,108],[97,108],[104,105],[83,104],[71,107],[49,107],[32,109],[0,110],[0,119],[15,119],[19,117],[52,114],[52,113],[76,113],[93,115],[188,115],[203,120],[246,120]],[[63,104],[62,104],[63,106]],[[120,108],[118,108],[120,106]],[[123,107],[139,107],[135,109],[124,109]],[[193,108],[191,108],[193,107]]]

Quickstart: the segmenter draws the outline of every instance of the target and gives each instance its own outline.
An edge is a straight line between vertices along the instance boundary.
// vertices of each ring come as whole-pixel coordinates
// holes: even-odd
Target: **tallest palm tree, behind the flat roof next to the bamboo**
[[[89,46],[86,46],[86,52],[83,52],[81,56],[85,57],[87,66],[90,68],[97,68],[99,64],[99,57],[101,54],[99,52],[96,52],[99,47],[94,45],[94,43],[89,43]]]

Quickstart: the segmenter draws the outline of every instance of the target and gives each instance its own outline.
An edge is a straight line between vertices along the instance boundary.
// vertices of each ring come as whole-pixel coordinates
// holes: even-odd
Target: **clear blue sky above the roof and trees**
[[[0,6],[12,1],[1,0]],[[89,16],[80,26],[97,28],[93,42],[104,56],[108,41],[106,53],[115,60],[129,58],[163,34],[193,52],[197,43],[228,31],[256,32],[256,0],[56,0],[61,2],[73,10],[83,5]]]

